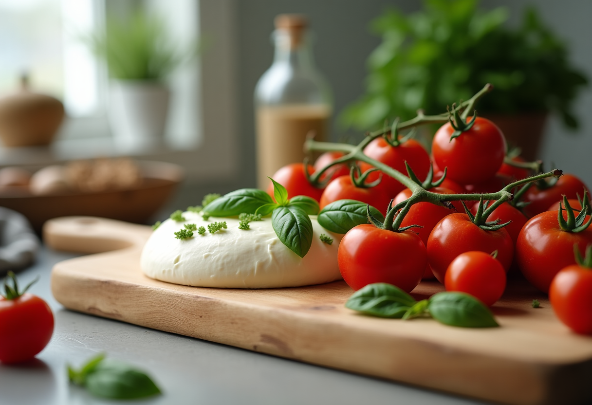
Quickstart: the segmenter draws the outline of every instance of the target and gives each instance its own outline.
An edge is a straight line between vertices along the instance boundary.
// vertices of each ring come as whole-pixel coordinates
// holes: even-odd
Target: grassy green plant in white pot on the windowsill
[[[165,23],[136,9],[129,18],[108,15],[105,31],[88,38],[110,76],[108,116],[121,149],[153,147],[162,142],[170,91],[166,78],[195,56],[176,46]]]

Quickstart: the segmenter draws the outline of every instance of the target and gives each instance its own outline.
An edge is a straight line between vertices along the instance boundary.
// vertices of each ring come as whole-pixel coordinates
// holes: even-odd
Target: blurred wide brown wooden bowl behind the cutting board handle
[[[43,223],[51,218],[73,215],[145,223],[166,203],[181,182],[183,171],[172,163],[137,163],[143,181],[134,188],[33,195],[27,187],[12,187],[0,193],[0,206],[23,214],[36,232],[40,232]]]

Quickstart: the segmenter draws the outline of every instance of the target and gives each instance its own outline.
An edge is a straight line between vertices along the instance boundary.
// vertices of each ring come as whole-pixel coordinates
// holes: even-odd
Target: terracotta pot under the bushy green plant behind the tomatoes
[[[483,114],[483,116],[500,127],[509,146],[518,146],[522,149],[520,156],[529,162],[539,158],[547,112],[520,115]]]

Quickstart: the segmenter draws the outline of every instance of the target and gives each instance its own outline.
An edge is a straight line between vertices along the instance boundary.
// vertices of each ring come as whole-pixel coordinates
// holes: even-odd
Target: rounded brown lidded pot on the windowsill
[[[29,91],[23,76],[21,91],[0,99],[0,139],[7,147],[48,145],[64,115],[62,102]]]

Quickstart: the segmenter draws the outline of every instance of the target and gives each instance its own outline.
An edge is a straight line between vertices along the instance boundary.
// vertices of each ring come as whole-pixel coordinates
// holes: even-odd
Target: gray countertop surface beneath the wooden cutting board
[[[40,275],[30,292],[52,307],[55,329],[36,360],[0,364],[0,405],[120,403],[67,381],[66,364],[79,367],[98,353],[143,368],[163,391],[134,404],[480,403],[66,310],[52,296],[50,272],[74,256],[43,248],[36,265],[18,275],[21,285]]]

